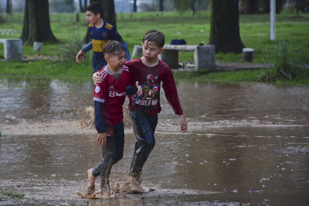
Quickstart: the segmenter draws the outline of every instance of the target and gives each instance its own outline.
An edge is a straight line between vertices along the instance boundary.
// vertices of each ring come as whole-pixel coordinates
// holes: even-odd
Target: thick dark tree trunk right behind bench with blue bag
[[[210,45],[216,53],[241,53],[238,0],[213,0],[210,17]]]

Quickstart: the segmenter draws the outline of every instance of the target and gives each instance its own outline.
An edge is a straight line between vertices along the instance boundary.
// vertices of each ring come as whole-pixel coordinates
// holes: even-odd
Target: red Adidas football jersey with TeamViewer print
[[[118,74],[106,67],[100,71],[104,81],[95,87],[93,100],[104,103],[103,119],[106,125],[115,126],[123,119],[122,105],[125,102],[126,88],[129,88],[129,70],[123,66]]]

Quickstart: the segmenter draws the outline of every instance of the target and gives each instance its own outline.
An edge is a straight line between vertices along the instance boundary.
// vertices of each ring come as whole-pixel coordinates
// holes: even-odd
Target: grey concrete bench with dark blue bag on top
[[[194,69],[216,68],[214,45],[164,45],[164,51],[159,59],[165,62],[170,68],[178,68],[178,51],[194,51]]]

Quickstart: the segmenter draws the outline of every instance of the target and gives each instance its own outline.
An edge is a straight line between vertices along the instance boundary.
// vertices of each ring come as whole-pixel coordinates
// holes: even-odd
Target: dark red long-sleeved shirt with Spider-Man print
[[[125,63],[129,68],[130,84],[135,85],[136,81],[143,88],[142,96],[129,96],[129,109],[143,110],[150,116],[160,113],[160,89],[161,81],[162,88],[165,92],[165,97],[168,103],[173,108],[175,114],[184,114],[180,106],[175,80],[171,69],[166,63],[159,60],[159,63],[154,67],[146,66],[141,58],[133,59]]]

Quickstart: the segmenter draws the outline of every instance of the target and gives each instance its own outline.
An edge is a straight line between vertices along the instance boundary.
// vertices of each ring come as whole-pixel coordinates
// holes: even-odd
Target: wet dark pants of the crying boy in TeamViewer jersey
[[[125,144],[125,132],[123,121],[116,126],[106,126],[113,129],[114,135],[107,136],[107,144],[102,146],[103,159],[95,168],[92,169],[92,174],[95,177],[101,175],[101,187],[109,184],[109,175],[112,170],[112,165],[116,164],[123,157],[123,147]],[[109,133],[109,132],[108,132]]]

